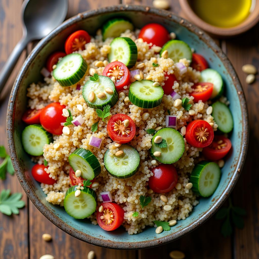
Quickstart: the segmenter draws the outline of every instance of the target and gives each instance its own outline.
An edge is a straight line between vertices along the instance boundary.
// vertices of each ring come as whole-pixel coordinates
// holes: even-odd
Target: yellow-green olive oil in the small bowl
[[[252,0],[189,0],[193,11],[207,23],[217,27],[234,27],[249,13]]]

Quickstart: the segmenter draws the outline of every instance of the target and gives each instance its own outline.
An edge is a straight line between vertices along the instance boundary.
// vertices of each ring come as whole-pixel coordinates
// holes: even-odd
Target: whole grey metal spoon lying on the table
[[[23,37],[17,43],[0,72],[0,93],[21,52],[32,40],[47,36],[60,25],[68,12],[68,0],[26,0],[21,6]]]

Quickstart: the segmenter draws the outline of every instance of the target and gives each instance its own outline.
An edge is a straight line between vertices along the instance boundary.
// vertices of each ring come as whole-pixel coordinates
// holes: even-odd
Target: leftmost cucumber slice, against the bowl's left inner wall
[[[52,134],[44,130],[44,128],[38,124],[25,127],[21,134],[23,148],[32,156],[41,156],[43,154],[43,146],[52,141]]]

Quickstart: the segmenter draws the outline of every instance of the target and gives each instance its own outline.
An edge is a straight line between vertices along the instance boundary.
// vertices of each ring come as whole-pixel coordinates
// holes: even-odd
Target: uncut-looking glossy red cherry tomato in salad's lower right
[[[154,192],[170,192],[177,184],[177,171],[171,164],[160,164],[151,170],[153,176],[149,178],[148,186]]]

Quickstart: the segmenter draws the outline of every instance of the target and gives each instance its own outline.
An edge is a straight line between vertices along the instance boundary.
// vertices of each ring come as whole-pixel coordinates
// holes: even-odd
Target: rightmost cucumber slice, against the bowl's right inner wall
[[[229,133],[233,130],[234,122],[231,111],[227,105],[221,102],[215,102],[212,104],[212,117],[218,124],[218,129],[224,133]]]

